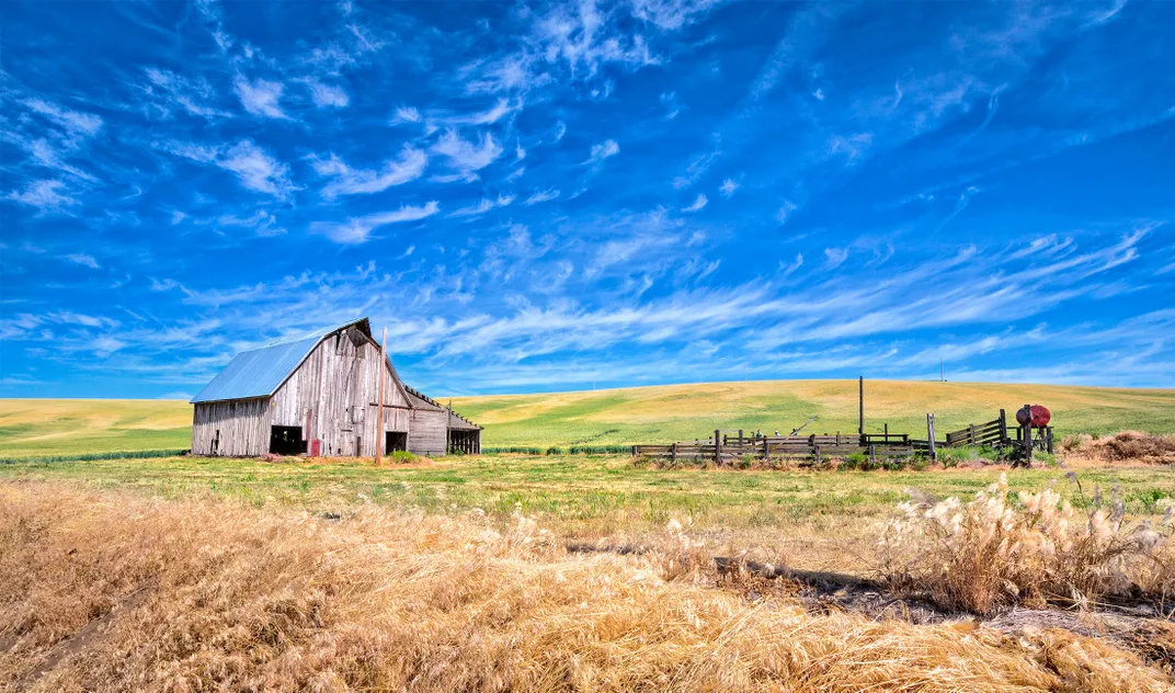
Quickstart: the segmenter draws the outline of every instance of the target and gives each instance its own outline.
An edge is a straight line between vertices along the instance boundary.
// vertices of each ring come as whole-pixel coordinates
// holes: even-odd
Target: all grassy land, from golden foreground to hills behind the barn
[[[1175,430],[1170,391],[867,386],[892,431],[1018,402],[1050,405],[1061,431]],[[813,409],[818,430],[852,430],[855,383],[454,405],[486,445],[607,444]],[[0,403],[0,689],[1175,689],[1169,465],[129,456],[186,448],[189,415]]]

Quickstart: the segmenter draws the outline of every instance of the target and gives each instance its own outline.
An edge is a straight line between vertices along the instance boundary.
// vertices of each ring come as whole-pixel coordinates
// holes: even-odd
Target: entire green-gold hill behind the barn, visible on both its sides
[[[1058,432],[1121,429],[1175,432],[1175,390],[992,383],[866,381],[865,424],[939,436],[1026,403],[1053,410]],[[692,440],[716,428],[784,433],[857,430],[855,381],[768,381],[666,385],[550,395],[455,397],[485,426],[484,445],[617,444]],[[159,399],[0,399],[0,457],[182,449],[192,406]]]

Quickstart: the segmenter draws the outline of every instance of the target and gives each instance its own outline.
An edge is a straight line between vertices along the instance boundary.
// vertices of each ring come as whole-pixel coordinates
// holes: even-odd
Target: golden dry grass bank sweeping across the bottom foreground
[[[814,615],[711,583],[672,525],[570,554],[516,514],[0,484],[0,686],[39,691],[1169,691],[1060,630]]]

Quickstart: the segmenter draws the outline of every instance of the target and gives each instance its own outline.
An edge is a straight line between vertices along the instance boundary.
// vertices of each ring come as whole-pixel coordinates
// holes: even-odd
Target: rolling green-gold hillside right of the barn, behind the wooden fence
[[[999,383],[865,382],[865,429],[939,437],[1025,404],[1053,411],[1059,435],[1121,429],[1175,432],[1175,390]],[[454,409],[485,426],[484,445],[570,445],[692,440],[714,429],[783,433],[857,430],[855,381],[765,381],[551,395],[455,397]]]

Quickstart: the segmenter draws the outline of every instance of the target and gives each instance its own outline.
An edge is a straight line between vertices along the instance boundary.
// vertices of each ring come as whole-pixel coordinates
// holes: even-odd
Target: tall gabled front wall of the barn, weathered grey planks
[[[381,368],[380,348],[348,331],[330,335],[302,362],[273,397],[273,425],[303,426],[322,440],[323,455],[375,455],[380,375],[384,377],[385,431],[408,432],[408,402],[391,370]],[[306,430],[307,413],[310,428]]]

